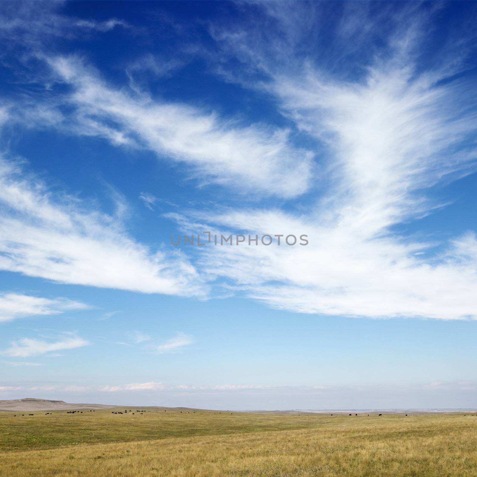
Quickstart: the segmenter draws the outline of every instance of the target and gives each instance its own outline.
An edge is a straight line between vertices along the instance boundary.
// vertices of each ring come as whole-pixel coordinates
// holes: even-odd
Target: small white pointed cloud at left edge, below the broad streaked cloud
[[[0,294],[0,321],[34,315],[56,315],[67,310],[84,310],[84,303],[65,298],[38,298],[18,293]]]

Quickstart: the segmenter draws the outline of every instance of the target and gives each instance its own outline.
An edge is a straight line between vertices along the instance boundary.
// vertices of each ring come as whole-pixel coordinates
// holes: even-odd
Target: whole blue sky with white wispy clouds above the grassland
[[[476,14],[2,2],[0,399],[475,406]]]

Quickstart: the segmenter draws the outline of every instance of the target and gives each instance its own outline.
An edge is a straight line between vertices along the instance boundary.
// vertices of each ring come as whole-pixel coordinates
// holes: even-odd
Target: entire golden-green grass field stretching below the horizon
[[[0,476],[477,476],[475,413],[127,409],[0,412]]]

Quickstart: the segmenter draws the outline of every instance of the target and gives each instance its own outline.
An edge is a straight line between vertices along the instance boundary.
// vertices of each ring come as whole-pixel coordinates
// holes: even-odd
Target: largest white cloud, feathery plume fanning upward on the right
[[[419,35],[409,28],[393,36],[384,59],[360,65],[363,77],[343,81],[308,58],[300,63],[290,44],[279,42],[284,49],[277,50],[294,58],[293,68],[267,58],[266,48],[277,43],[224,35],[217,38],[228,41],[228,52],[261,68],[282,111],[320,141],[318,152],[329,158],[321,168],[327,187],[301,213],[191,214],[209,222],[203,230],[307,234],[310,241],[304,247],[204,247],[203,270],[279,309],[477,318],[475,234],[441,243],[396,232],[413,220],[418,228],[419,218],[443,206],[425,197],[427,188],[476,170],[477,97],[472,85],[449,77],[459,60],[423,72],[415,64]]]

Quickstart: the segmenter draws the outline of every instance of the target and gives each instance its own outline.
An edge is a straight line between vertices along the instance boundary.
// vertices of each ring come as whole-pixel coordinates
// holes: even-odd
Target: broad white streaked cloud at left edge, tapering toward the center
[[[131,239],[121,213],[109,216],[75,197],[53,196],[40,181],[1,159],[0,253],[0,270],[61,283],[173,295],[206,293],[180,253],[167,256]]]

